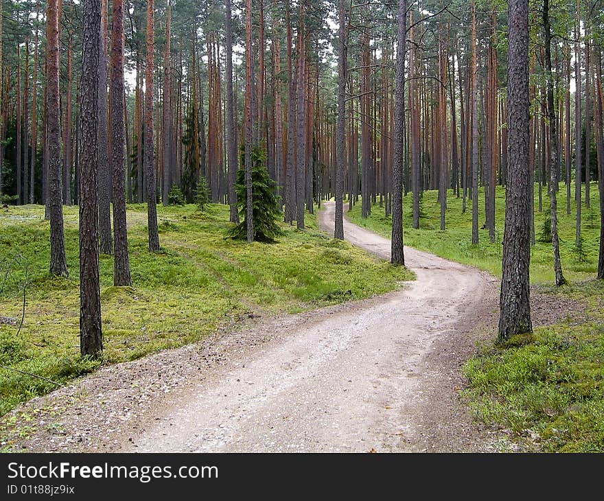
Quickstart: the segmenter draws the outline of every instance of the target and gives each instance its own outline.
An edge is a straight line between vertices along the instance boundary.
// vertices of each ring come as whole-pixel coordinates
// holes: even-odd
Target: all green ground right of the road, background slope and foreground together
[[[574,196],[574,191],[573,191]],[[447,259],[501,274],[504,221],[504,189],[496,198],[496,242],[480,229],[477,246],[472,246],[472,211],[462,213],[462,200],[449,191],[446,229],[440,230],[437,191],[428,191],[421,202],[420,229],[411,229],[411,196],[404,201],[405,244],[428,250]],[[546,452],[604,452],[604,283],[595,280],[599,251],[599,198],[591,185],[591,206],[582,211],[583,249],[575,246],[574,200],[566,214],[566,190],[559,192],[560,251],[564,275],[569,283],[553,286],[552,247],[539,242],[548,218],[549,199],[544,190],[539,212],[535,189],[535,233],[531,252],[531,282],[538,292],[561,294],[588,303],[581,323],[572,312],[560,312],[563,323],[537,327],[531,335],[516,336],[505,345],[483,347],[480,356],[463,369],[469,384],[464,400],[478,419],[511,430],[526,450]],[[484,198],[480,190],[480,226],[484,223]],[[363,219],[360,205],[349,218],[376,233],[390,235],[391,219],[374,205]],[[493,340],[496,333],[493,332]]]

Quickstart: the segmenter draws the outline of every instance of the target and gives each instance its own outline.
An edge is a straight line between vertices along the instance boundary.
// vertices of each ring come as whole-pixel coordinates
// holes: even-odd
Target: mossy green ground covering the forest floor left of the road
[[[200,340],[249,316],[301,312],[395,290],[413,278],[346,242],[308,215],[283,224],[275,244],[228,237],[229,208],[159,207],[161,253],[147,248],[146,206],[128,207],[132,287],[113,287],[113,257],[100,259],[102,362],[79,355],[78,209],[65,207],[69,278],[49,278],[49,222],[39,206],[0,209],[0,364],[64,383],[100,363],[133,360]],[[19,264],[14,261],[20,259]],[[17,336],[25,290],[25,321]],[[0,415],[47,393],[51,382],[0,368]]]

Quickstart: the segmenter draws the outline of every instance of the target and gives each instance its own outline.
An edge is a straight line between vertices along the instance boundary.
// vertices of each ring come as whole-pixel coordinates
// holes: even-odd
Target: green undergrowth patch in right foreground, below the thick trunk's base
[[[528,450],[604,452],[604,283],[576,285],[573,294],[599,303],[588,321],[537,327],[463,369],[474,415],[508,428]]]

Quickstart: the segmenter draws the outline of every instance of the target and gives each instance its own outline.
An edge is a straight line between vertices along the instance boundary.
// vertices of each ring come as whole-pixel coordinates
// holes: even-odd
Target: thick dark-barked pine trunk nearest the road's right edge
[[[508,169],[499,341],[533,331],[529,292],[529,0],[508,7]]]

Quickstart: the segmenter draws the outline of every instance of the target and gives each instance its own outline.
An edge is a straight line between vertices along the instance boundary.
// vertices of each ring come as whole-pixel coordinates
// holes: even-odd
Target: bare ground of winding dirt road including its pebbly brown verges
[[[320,217],[332,229],[333,205]],[[345,234],[388,259],[386,238],[349,222]],[[497,279],[410,248],[406,258],[417,281],[403,290],[105,366],[10,412],[7,440],[69,452],[518,450],[459,395],[461,366],[493,335]],[[537,325],[581,311],[560,296],[533,305]]]

